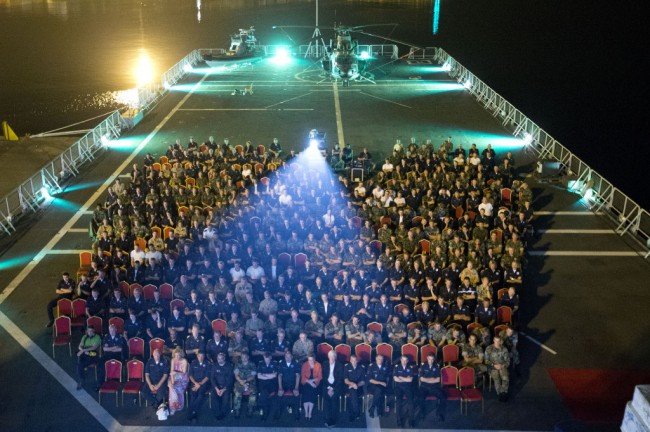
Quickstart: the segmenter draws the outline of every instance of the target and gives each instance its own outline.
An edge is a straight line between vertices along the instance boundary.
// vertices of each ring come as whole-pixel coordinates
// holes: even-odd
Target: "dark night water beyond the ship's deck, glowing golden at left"
[[[441,46],[547,132],[650,208],[643,2],[321,0],[320,24],[397,22],[393,37]],[[630,4],[628,4],[630,3]],[[255,25],[310,25],[308,0],[0,0],[0,120],[23,135],[117,107],[141,56],[154,76],[192,49]],[[380,32],[380,30],[376,30]],[[310,31],[298,32],[298,40]],[[371,40],[361,42],[371,43]],[[645,53],[645,54],[644,54]],[[82,125],[83,126],[83,125]]]

